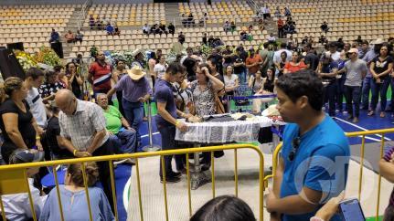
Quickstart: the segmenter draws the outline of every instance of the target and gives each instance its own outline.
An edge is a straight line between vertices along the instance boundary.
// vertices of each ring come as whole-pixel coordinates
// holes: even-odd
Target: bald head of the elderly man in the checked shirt
[[[55,95],[55,102],[59,110],[67,115],[72,115],[77,109],[77,98],[69,89],[60,89]]]

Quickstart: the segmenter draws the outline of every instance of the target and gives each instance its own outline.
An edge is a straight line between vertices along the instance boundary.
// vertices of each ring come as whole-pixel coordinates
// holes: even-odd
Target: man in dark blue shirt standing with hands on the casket
[[[165,71],[165,75],[162,79],[157,79],[157,83],[154,85],[154,97],[157,101],[157,115],[155,117],[157,130],[160,132],[162,137],[162,150],[170,150],[176,147],[176,128],[181,132],[186,132],[186,123],[177,121],[178,116],[190,117],[191,114],[186,114],[176,109],[176,100],[174,98],[172,83],[184,75],[185,68],[181,64],[173,62]],[[165,155],[165,182],[166,183],[177,183],[180,181],[180,172],[174,172],[172,170],[171,161],[172,155]],[[181,161],[180,156],[176,156],[176,161]],[[162,163],[160,161],[160,181],[163,182],[163,170]]]

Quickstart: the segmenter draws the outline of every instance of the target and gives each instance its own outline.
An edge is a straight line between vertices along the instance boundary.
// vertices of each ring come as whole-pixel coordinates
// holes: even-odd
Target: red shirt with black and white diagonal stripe
[[[108,91],[111,89],[111,65],[101,66],[98,62],[93,62],[91,68],[89,68],[89,73],[93,76],[93,90]]]

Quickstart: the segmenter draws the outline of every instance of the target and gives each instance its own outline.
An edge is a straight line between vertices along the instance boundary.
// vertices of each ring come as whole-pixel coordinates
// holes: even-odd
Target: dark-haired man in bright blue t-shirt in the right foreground
[[[277,109],[288,124],[267,210],[271,220],[305,221],[345,189],[349,145],[342,129],[322,111],[324,87],[313,71],[283,75],[276,89]]]

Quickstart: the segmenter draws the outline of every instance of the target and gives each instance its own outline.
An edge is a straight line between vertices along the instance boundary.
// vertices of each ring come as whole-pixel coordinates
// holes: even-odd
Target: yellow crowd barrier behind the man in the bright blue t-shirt
[[[387,133],[394,133],[394,128],[392,129],[385,129],[385,130],[373,130],[373,131],[366,131],[366,132],[346,132],[346,137],[361,137],[361,146],[360,146],[360,170],[359,170],[359,177],[358,177],[358,200],[361,200],[361,191],[362,191],[362,179],[363,179],[363,169],[364,169],[364,153],[365,153],[365,145],[366,145],[366,136],[367,135],[378,135],[380,136],[380,158],[383,157],[383,149],[385,145],[385,134]],[[272,155],[272,174],[267,175],[264,177],[264,185],[267,186],[268,180],[272,179],[275,176],[276,167],[278,165],[278,157],[279,153],[282,150],[282,143],[280,143],[273,155]],[[377,194],[377,207],[376,207],[376,214],[375,218],[378,221],[379,216],[379,205],[380,205],[380,187],[381,187],[381,175],[378,174],[378,194]]]

